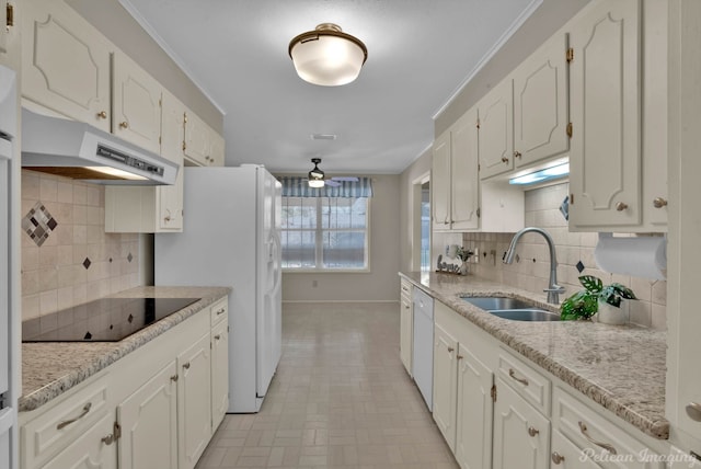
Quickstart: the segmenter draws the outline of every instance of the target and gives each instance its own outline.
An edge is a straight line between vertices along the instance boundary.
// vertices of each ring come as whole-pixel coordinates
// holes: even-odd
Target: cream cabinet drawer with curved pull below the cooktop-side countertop
[[[23,467],[33,468],[46,462],[105,416],[108,413],[107,388],[107,377],[103,376],[60,403],[51,403],[53,409],[23,425]]]

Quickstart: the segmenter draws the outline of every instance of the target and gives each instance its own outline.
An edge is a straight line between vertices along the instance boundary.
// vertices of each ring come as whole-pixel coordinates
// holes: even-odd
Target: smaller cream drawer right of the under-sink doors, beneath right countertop
[[[550,415],[550,379],[504,350],[499,351],[498,375],[536,409]]]

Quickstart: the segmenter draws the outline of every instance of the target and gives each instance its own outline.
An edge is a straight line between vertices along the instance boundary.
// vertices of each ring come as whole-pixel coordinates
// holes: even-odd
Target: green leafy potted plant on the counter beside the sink
[[[579,283],[585,288],[565,299],[560,306],[560,318],[590,319],[598,313],[599,322],[606,324],[624,324],[629,311],[627,299],[637,299],[633,290],[624,285],[612,283],[604,286],[604,282],[594,275],[583,275]]]

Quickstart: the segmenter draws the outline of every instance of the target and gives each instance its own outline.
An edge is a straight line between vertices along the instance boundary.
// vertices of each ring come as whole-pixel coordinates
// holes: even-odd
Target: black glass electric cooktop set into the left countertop
[[[22,342],[118,342],[200,298],[102,298],[22,323]]]

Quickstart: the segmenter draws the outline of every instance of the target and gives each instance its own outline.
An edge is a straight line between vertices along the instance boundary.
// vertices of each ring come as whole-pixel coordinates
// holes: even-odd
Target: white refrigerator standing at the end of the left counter
[[[185,168],[182,233],[156,234],[156,285],[229,286],[229,413],[257,412],[281,352],[279,182]]]

